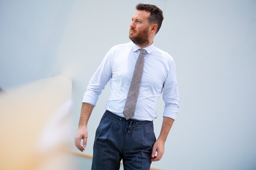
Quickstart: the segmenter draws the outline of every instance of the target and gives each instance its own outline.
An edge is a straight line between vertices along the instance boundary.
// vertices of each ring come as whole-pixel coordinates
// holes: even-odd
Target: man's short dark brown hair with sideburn
[[[157,25],[157,29],[156,29],[156,33],[159,31],[164,16],[163,16],[163,11],[160,10],[157,6],[155,5],[151,5],[151,4],[137,4],[136,5],[136,10],[140,10],[140,11],[149,11],[151,14],[148,17],[148,23],[149,25],[151,24],[156,24]]]

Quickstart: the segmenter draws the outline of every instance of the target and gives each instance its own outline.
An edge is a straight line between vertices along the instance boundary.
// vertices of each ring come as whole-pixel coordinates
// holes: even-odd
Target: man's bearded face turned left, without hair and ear
[[[137,10],[132,16],[130,24],[129,38],[137,45],[146,45],[149,43],[149,24],[148,17],[150,12]]]

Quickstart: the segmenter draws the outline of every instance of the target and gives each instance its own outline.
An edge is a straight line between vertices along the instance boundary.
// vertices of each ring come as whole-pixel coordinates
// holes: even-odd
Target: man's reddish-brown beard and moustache
[[[149,40],[148,40],[148,29],[149,27],[145,28],[144,30],[140,31],[140,32],[137,32],[137,35],[136,36],[132,36],[131,34],[129,34],[129,39],[139,45],[139,46],[145,46],[147,44],[149,44]],[[133,29],[133,28],[130,28],[130,31],[133,31],[136,33],[136,31]],[[130,33],[129,31],[129,33]]]

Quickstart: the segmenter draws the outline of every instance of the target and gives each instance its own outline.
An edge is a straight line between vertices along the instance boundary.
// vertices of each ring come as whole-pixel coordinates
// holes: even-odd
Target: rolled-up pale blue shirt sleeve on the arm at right
[[[163,117],[175,120],[179,113],[179,92],[173,60],[169,62],[169,69],[163,86],[163,100],[165,102]]]

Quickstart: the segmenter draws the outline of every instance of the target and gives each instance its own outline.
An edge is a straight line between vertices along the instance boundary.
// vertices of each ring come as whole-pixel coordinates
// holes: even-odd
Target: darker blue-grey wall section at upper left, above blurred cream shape
[[[72,1],[0,0],[0,88],[60,74],[55,59]]]

